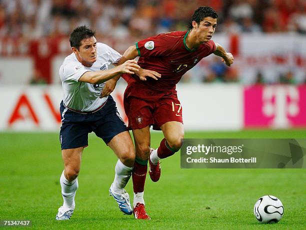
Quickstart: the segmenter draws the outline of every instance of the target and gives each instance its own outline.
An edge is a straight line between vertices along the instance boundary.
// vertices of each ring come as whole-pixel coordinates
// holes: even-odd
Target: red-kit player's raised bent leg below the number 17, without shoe
[[[169,121],[160,126],[164,138],[157,149],[150,154],[150,160],[157,164],[159,158],[166,158],[179,150],[181,139],[184,137],[183,124],[178,121]]]

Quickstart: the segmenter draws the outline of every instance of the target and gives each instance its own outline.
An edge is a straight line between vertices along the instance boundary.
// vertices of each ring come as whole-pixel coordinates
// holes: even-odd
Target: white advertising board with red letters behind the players
[[[242,128],[242,86],[236,84],[178,85],[186,130]],[[113,98],[127,123],[123,109],[125,85],[118,85]],[[0,87],[0,130],[58,131],[61,86]]]

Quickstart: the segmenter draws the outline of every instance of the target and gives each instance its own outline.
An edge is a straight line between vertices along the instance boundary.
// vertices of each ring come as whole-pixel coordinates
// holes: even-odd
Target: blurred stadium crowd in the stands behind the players
[[[199,5],[209,5],[218,12],[216,34],[306,34],[305,0],[0,0],[0,40],[60,39],[74,27],[86,24],[96,30],[97,40],[122,51],[126,43],[185,30]],[[235,70],[228,72],[217,61],[211,70],[213,74],[203,81],[237,80]],[[260,73],[258,77],[260,82]]]

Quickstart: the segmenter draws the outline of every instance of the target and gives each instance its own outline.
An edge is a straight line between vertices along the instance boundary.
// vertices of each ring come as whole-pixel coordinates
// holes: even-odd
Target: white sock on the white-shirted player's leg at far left
[[[65,178],[64,173],[62,171],[60,176],[60,186],[61,186],[61,195],[63,198],[63,207],[73,207],[75,206],[74,203],[74,196],[76,189],[78,187],[77,178],[69,181]]]

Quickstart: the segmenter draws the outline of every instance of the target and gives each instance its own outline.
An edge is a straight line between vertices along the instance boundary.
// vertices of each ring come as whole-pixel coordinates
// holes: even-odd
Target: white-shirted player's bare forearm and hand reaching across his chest
[[[120,76],[122,73],[134,74],[140,68],[137,65],[136,60],[127,60],[123,64],[120,64],[112,69],[101,70],[101,71],[87,71],[85,72],[78,81],[87,82],[91,84],[103,83],[115,76]]]

